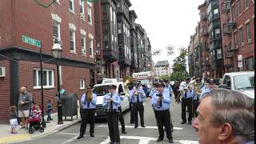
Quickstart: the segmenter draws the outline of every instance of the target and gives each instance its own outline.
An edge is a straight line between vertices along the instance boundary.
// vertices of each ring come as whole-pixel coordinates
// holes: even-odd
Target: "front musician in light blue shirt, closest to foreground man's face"
[[[170,129],[170,103],[171,98],[168,92],[163,88],[164,84],[158,83],[157,92],[153,94],[151,103],[154,107],[155,118],[158,123],[159,137],[157,142],[161,142],[164,138],[163,126],[166,128],[166,137],[170,143],[173,143],[173,138]]]

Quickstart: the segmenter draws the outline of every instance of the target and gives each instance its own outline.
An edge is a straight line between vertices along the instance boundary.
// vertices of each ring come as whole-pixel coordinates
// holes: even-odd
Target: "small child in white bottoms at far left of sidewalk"
[[[10,127],[10,133],[17,134],[16,128],[18,128],[18,119],[16,106],[10,106]]]

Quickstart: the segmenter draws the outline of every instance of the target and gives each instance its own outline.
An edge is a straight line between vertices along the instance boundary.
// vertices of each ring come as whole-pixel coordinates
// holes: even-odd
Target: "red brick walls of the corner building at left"
[[[51,54],[53,41],[53,15],[61,18],[60,22],[60,40],[62,41],[62,58],[66,63],[80,62],[77,66],[62,66],[62,85],[70,93],[78,94],[78,97],[84,92],[80,90],[80,79],[84,79],[86,84],[90,84],[90,69],[95,63],[94,58],[90,58],[90,38],[93,39],[93,52],[96,50],[96,41],[94,33],[94,4],[92,3],[92,25],[88,23],[87,2],[84,3],[85,20],[80,18],[79,1],[74,1],[74,13],[69,10],[69,1],[60,1],[54,3],[48,8],[39,6],[36,2],[30,0],[22,1],[0,1],[0,54],[2,48],[18,46],[24,50],[39,51],[39,48],[22,42],[22,35],[37,39],[42,42],[42,51],[44,54]],[[75,32],[75,53],[70,53],[70,24],[76,28]],[[84,30],[86,32],[86,56],[82,55],[81,36]],[[11,53],[15,53],[12,51]],[[33,55],[34,56],[34,55]],[[32,57],[32,55],[31,55]],[[6,67],[6,77],[0,78],[0,123],[6,122],[9,117],[10,106],[10,64],[9,60],[2,60],[0,56],[0,66]],[[33,94],[34,100],[41,103],[41,90],[34,89],[34,69],[39,69],[38,62],[23,61],[22,57],[18,62],[19,79],[18,86],[27,86]],[[30,59],[30,58],[26,58]],[[46,58],[47,59],[47,58]],[[64,61],[62,59],[62,61]],[[33,60],[34,61],[34,60]],[[90,65],[90,66],[87,66]],[[65,65],[60,62],[60,65]],[[81,66],[82,65],[82,66]],[[88,67],[88,68],[86,68]],[[57,92],[57,74],[56,65],[43,64],[43,69],[54,70],[54,87],[44,89],[44,105],[48,99],[53,100],[53,106],[56,106],[55,94]],[[8,109],[8,110],[6,110]],[[56,107],[55,107],[56,109]]]

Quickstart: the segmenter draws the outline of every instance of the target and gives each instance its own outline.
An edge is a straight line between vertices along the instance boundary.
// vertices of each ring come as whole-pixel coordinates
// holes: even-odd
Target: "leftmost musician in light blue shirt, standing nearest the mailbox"
[[[97,95],[92,93],[92,86],[86,86],[86,94],[82,94],[82,122],[80,126],[80,134],[77,139],[83,138],[83,134],[86,132],[87,122],[90,122],[90,137],[94,137],[94,117],[95,108],[97,102]]]

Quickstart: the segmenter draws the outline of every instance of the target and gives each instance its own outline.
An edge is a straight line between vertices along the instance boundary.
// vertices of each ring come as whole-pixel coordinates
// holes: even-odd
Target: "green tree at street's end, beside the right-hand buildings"
[[[186,71],[186,55],[187,49],[182,47],[179,49],[180,54],[177,58],[174,59],[174,66],[172,68],[173,73],[170,76],[170,80],[180,80],[184,79],[188,72]]]

